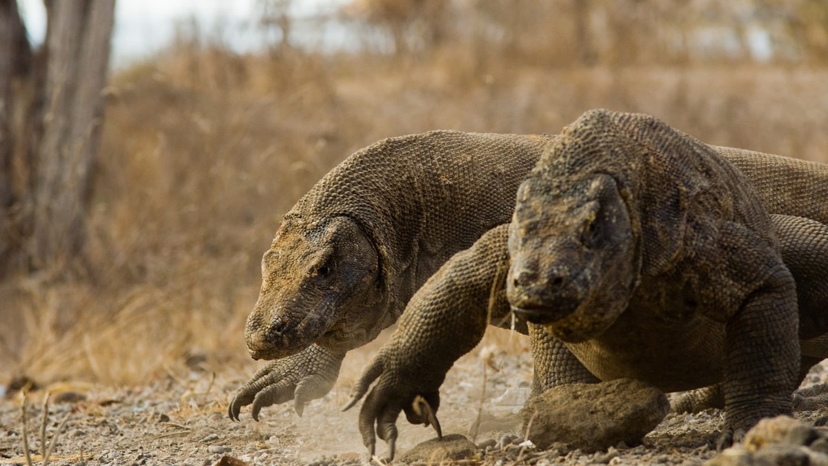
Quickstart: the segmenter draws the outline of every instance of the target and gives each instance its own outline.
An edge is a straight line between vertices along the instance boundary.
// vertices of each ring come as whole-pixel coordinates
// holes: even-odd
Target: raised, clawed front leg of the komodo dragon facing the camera
[[[435,425],[440,434],[434,413],[445,373],[483,338],[494,310],[508,309],[503,292],[507,235],[507,225],[488,231],[431,276],[408,303],[391,340],[354,386],[345,409],[368,393],[359,411],[359,431],[372,455],[378,436],[388,442],[393,458],[401,411],[412,424]],[[373,381],[376,384],[368,391]],[[417,396],[430,409],[416,410]]]

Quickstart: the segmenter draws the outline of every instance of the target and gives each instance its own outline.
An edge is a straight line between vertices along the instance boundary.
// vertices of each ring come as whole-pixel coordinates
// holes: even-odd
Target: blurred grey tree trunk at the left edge
[[[0,26],[14,24],[15,18],[20,22],[15,0],[0,0],[0,6]],[[60,271],[78,258],[84,245],[114,0],[47,0],[46,13],[41,51],[45,66],[31,66],[18,92],[2,87],[15,75],[10,67],[0,68],[5,96],[0,105],[19,114],[19,123],[0,121],[7,129],[0,129],[0,138],[6,138],[0,146],[0,183],[11,193],[0,208],[17,213],[3,216],[10,225],[0,231],[0,263],[6,264],[5,270],[0,266],[0,276],[31,269]],[[12,34],[8,31],[2,28],[3,34]],[[0,60],[6,44],[0,39]],[[31,56],[27,43],[22,48],[24,56]],[[12,52],[12,57],[15,53],[22,52]],[[26,89],[30,91],[19,92]],[[0,201],[2,196],[0,184]]]

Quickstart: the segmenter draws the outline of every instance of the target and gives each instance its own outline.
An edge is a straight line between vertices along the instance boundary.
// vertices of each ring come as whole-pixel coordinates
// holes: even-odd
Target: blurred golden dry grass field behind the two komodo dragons
[[[379,138],[556,133],[601,106],[655,114],[709,143],[828,162],[825,68],[547,68],[467,52],[236,56],[185,42],[115,75],[82,273],[2,285],[0,380],[137,383],[194,354],[250,371],[244,318],[280,216]]]

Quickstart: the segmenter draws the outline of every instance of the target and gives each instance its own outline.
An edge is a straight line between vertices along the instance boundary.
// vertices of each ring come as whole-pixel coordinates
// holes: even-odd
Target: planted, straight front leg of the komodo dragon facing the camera
[[[777,253],[758,249],[758,244],[744,226],[720,227],[720,251],[724,251],[720,264],[734,281],[720,282],[716,299],[742,294],[735,313],[724,316],[725,427],[720,447],[739,441],[763,417],[790,415],[792,391],[799,381],[794,280]],[[735,281],[743,277],[748,280]]]

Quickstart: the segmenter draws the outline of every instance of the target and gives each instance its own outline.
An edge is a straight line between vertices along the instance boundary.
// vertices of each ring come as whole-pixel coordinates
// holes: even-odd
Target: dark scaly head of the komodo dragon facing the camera
[[[597,336],[632,294],[634,236],[613,177],[597,173],[570,186],[528,177],[509,229],[509,302],[566,342]]]

